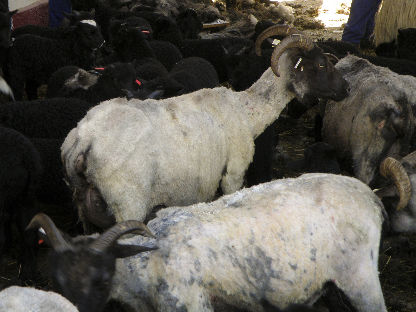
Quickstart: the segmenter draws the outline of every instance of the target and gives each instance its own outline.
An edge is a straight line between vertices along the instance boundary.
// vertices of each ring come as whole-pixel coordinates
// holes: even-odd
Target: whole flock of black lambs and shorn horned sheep
[[[282,5],[275,24],[227,3],[240,21],[201,37],[221,3],[72,2],[61,28],[11,34],[0,5],[0,255],[15,220],[18,279],[44,242],[54,290],[5,288],[0,311],[347,311],[333,289],[387,311],[381,244],[416,233],[416,30],[369,57]],[[271,181],[276,120],[316,105],[315,144],[287,163],[307,173]],[[72,200],[84,235],[35,200]]]

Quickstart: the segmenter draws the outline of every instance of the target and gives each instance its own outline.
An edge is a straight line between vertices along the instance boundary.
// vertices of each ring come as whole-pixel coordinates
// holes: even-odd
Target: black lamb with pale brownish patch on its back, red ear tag
[[[70,78],[69,81],[67,80],[64,82],[61,88],[59,88],[59,86],[55,86],[59,90],[58,92],[49,90],[48,92],[57,97],[72,97],[82,99],[93,104],[97,104],[108,99],[114,99],[116,97],[122,97],[124,96],[123,90],[134,92],[138,87],[135,82],[135,63],[136,61],[133,60],[131,63],[117,62],[106,67],[96,67],[95,70],[102,72],[102,75],[98,77],[97,82],[92,84],[87,89],[78,88],[66,91],[66,84],[68,82],[72,83],[72,78]],[[53,82],[52,79],[56,79],[56,76],[57,75],[52,75],[50,82]]]

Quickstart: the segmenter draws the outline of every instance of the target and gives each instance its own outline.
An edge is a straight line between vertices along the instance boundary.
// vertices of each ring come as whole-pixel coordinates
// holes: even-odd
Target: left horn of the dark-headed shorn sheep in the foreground
[[[53,249],[69,250],[72,246],[64,239],[62,233],[45,213],[37,213],[27,225],[26,230],[42,227]]]

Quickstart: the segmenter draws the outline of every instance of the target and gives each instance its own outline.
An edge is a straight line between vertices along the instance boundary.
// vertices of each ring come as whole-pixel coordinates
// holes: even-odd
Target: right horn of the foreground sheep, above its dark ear
[[[98,252],[106,252],[116,240],[118,240],[124,234],[139,234],[146,237],[156,238],[144,223],[137,220],[129,220],[119,222],[113,225],[111,228],[102,233],[97,240],[91,244],[91,249]]]

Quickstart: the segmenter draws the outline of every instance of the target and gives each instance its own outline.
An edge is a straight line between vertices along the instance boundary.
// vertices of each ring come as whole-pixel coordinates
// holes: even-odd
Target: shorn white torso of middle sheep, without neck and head
[[[74,164],[84,154],[84,175],[117,221],[144,220],[160,204],[210,201],[225,173],[242,182],[253,157],[245,107],[232,105],[238,96],[246,95],[215,88],[159,101],[102,102],[62,145],[71,187],[83,192]],[[207,105],[204,98],[213,104]],[[241,185],[228,187],[225,192],[231,193]]]

